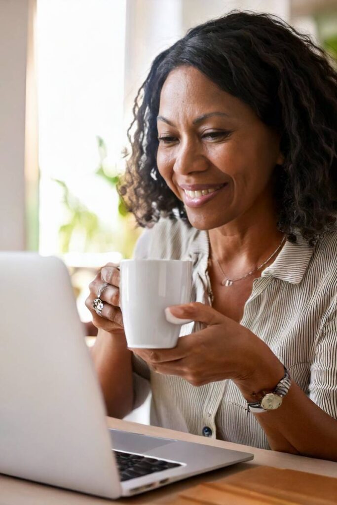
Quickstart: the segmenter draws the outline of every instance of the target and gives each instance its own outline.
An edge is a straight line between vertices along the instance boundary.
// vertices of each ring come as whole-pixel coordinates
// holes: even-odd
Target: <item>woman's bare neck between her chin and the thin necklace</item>
[[[276,212],[259,205],[229,223],[208,231],[210,258],[234,276],[258,267],[281,243]],[[271,258],[270,262],[274,261]],[[227,273],[226,272],[226,273]]]

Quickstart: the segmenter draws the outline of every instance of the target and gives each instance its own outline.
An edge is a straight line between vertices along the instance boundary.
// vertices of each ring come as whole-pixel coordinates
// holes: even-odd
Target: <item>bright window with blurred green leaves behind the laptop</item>
[[[138,235],[113,184],[127,145],[125,12],[125,0],[37,1],[39,252],[70,268],[82,320],[94,270],[130,256]]]

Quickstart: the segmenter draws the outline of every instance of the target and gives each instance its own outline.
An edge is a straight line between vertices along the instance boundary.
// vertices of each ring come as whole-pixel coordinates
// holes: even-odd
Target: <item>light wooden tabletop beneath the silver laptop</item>
[[[316,473],[337,477],[337,463],[332,461],[304,458],[285,452],[275,452],[271,450],[256,449],[246,445],[238,445],[220,440],[213,440],[189,433],[157,428],[137,423],[121,421],[119,419],[107,418],[110,428],[120,428],[134,433],[144,433],[147,435],[158,435],[166,438],[175,438],[191,442],[204,443],[228,449],[243,450],[254,453],[254,460],[247,463],[238,463],[222,470],[215,470],[206,474],[170,484],[158,490],[150,491],[131,498],[121,498],[118,500],[107,500],[97,498],[74,491],[59,489],[43,484],[36,484],[30,481],[0,475],[0,505],[103,505],[104,503],[151,503],[160,500],[162,503],[168,502],[183,489],[196,486],[201,482],[209,482],[221,479],[227,475],[252,468],[252,466],[267,465],[278,468],[289,468],[301,470],[302,472]]]

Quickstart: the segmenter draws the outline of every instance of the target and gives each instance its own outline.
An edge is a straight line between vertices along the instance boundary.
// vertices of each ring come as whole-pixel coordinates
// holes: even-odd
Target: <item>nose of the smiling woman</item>
[[[207,158],[201,152],[198,142],[185,140],[179,143],[173,165],[176,174],[186,175],[190,172],[203,172],[207,170],[207,167]]]

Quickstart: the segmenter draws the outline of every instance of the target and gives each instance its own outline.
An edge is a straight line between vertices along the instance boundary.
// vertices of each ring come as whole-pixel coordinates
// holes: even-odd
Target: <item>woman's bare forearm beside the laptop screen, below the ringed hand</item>
[[[123,333],[112,334],[99,330],[90,348],[105,399],[107,413],[122,419],[132,410],[133,383],[131,351]]]

